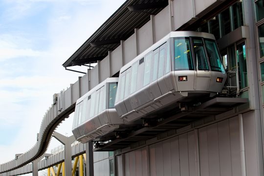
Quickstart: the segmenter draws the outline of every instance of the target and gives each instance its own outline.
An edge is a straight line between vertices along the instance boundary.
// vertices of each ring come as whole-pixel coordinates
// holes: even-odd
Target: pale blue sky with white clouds
[[[35,145],[53,94],[83,76],[62,64],[124,1],[0,0],[0,164]],[[72,135],[72,120],[56,131]]]

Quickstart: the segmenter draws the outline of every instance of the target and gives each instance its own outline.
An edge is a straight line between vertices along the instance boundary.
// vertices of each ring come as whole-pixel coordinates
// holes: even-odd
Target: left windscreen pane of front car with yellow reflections
[[[190,51],[190,40],[174,39],[174,69],[175,70],[193,70],[192,55]]]

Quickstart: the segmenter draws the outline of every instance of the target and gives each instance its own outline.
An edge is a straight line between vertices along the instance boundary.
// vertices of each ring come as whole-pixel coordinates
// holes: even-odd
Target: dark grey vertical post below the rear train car
[[[93,151],[92,142],[86,143],[86,176],[93,176]]]

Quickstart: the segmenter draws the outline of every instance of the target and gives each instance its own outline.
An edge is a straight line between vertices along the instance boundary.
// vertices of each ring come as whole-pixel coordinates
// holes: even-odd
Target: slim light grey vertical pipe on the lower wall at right
[[[239,138],[240,138],[241,176],[246,176],[245,143],[244,143],[244,128],[243,128],[242,114],[239,114]]]

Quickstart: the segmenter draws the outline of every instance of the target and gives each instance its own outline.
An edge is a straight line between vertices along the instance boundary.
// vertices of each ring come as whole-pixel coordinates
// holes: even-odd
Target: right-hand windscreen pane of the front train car
[[[221,71],[222,73],[225,73],[215,41],[205,39],[205,46],[212,71]]]

